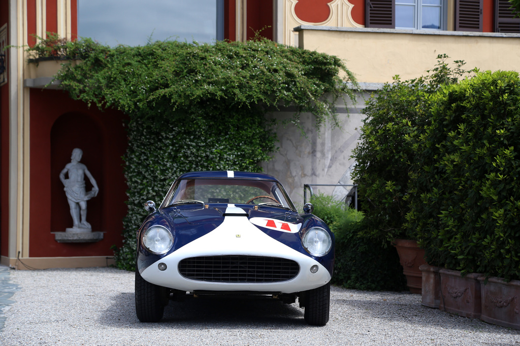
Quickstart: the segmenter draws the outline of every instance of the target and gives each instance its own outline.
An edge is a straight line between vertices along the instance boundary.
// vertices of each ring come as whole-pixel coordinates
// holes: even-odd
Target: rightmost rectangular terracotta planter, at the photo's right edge
[[[482,292],[480,319],[499,326],[520,329],[520,281],[504,282],[490,277],[484,284],[484,276],[478,278]]]

